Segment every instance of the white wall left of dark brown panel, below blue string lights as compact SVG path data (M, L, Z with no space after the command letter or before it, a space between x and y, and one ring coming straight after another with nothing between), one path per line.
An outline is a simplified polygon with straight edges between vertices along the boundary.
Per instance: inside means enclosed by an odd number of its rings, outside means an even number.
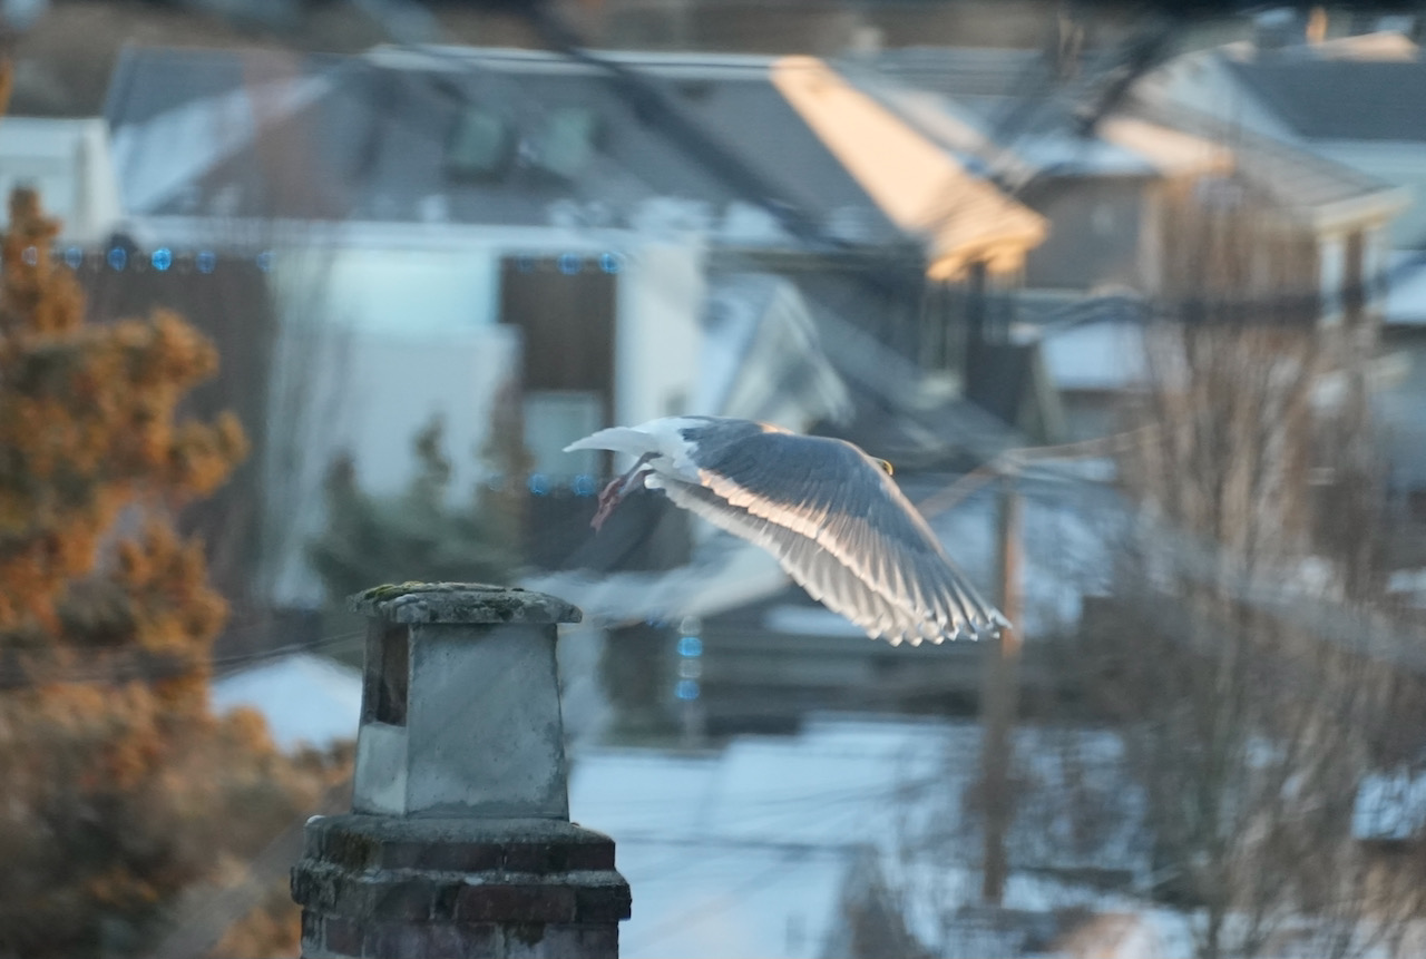
M493 322L495 261L482 248L278 251L274 262L265 571L274 600L312 606L322 593L304 553L325 523L334 457L351 455L368 493L399 493L416 467L412 439L441 416L451 496L469 497L519 335Z

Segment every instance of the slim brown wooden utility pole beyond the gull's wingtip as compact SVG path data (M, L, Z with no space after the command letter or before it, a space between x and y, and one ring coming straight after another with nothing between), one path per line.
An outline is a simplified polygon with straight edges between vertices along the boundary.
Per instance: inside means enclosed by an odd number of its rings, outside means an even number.
M981 874L981 902L1000 906L1005 893L1010 862L1005 854L1005 834L1010 831L1012 797L1010 771L1012 764L1012 734L1020 700L1020 493L1015 477L1004 476L1000 484L1000 610L1015 628L1002 628L985 650L981 684L981 805L985 818L984 871Z

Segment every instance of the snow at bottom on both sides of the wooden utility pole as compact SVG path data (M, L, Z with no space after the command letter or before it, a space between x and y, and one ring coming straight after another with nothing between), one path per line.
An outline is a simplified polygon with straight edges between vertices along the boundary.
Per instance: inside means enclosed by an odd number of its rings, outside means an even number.
M970 722L819 717L796 737L740 737L717 751L579 752L573 815L616 839L635 891L623 955L823 955L868 849L911 932L955 955L968 933L954 913L980 892L981 839L974 814L963 814L980 737ZM1085 802L1104 814L1078 846L1065 819L1070 757L1099 784ZM1027 794L1011 836L1018 868L1007 908L1142 908L1052 872L1092 864L1144 874L1142 808L1117 775L1118 760L1108 734L1018 734ZM1162 936L1152 943L1152 955L1182 955L1164 952Z

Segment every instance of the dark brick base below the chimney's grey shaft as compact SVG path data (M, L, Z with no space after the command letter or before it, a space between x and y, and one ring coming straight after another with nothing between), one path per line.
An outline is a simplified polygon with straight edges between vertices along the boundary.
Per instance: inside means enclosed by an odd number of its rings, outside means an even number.
M562 819L341 815L292 869L304 959L616 959L615 844Z

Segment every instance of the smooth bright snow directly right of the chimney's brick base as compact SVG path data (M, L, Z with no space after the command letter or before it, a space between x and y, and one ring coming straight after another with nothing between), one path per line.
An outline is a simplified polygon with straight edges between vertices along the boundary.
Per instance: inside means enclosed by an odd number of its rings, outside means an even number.
M639 901L620 953L820 953L857 851L894 829L890 798L907 774L934 772L935 728L814 721L720 752L580 754L570 811L615 838Z

